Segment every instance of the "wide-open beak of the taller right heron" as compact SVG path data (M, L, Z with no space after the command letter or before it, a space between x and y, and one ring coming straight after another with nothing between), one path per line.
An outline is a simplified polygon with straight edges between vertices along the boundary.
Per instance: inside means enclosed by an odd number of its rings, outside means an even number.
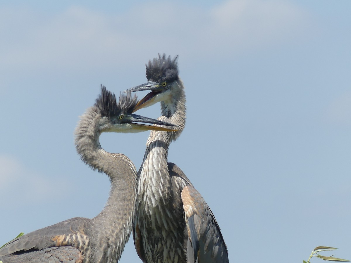
M155 96L163 91L163 88L160 88L159 83L149 81L147 83L141 84L139 86L136 86L134 88L130 88L125 90L125 92L137 92L137 91L142 91L142 90L151 90L150 93L148 93L143 99L141 99L137 106L135 106L133 112L136 112L137 110L141 108L145 108L150 106L151 104L154 104L154 99Z

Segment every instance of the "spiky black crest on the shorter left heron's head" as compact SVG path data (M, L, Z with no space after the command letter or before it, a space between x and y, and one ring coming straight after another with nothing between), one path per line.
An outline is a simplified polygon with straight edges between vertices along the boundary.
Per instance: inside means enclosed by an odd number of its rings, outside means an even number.
M120 93L117 103L116 95L101 85L101 94L96 100L95 106L100 109L101 115L111 117L120 115L122 112L131 114L137 103L137 96L135 94L132 96L131 93Z

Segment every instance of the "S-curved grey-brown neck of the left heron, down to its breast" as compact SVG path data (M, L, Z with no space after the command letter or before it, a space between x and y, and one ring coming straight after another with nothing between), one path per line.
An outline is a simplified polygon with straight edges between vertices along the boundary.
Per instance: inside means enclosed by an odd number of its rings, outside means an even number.
M111 191L105 208L91 221L98 258L120 257L127 242L135 216L137 171L123 154L111 154L99 143L101 115L93 108L81 117L76 129L76 149L82 161L94 170L104 172L111 181ZM94 245L94 244L93 244ZM100 261L99 261L100 262Z

